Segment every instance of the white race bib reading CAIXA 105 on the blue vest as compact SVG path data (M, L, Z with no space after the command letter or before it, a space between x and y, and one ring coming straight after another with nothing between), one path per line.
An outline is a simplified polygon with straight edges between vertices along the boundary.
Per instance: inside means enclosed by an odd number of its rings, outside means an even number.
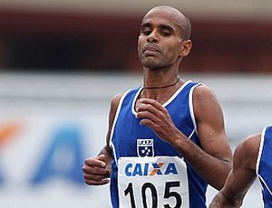
M187 166L178 156L120 157L120 208L189 208Z

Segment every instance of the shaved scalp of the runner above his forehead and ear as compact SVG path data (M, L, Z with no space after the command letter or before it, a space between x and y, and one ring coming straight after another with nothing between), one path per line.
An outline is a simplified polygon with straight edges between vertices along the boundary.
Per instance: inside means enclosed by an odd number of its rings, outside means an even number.
M191 25L189 22L189 18L180 12L180 10L170 6L170 5L158 5L155 6L153 8L151 8L151 10L144 15L142 22L149 17L149 15L151 14L168 14L170 15L170 17L173 19L173 21L175 22L175 24L180 25L180 27L182 28L182 35L181 38L183 40L188 40L190 37L190 33L191 33Z

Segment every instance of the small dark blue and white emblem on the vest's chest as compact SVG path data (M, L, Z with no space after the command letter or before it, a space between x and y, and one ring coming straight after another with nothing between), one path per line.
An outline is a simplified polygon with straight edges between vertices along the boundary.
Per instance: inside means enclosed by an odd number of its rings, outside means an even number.
M154 140L152 138L137 139L138 156L154 156Z

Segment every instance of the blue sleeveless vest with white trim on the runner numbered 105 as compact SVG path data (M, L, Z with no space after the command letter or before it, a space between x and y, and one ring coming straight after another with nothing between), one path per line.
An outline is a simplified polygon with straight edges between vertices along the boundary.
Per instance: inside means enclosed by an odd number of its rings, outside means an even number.
M163 106L168 109L175 126L201 147L192 105L192 91L198 85L199 83L187 81ZM135 103L141 90L142 88L128 90L122 96L112 125L112 207L181 207L181 203L185 208L206 207L206 182L179 151L157 137L151 128L140 125L141 118L135 118ZM178 160L184 163L184 166L180 166L186 170L186 173L181 174L186 177L186 181L182 183L177 177L177 180L170 180L182 172L182 168L177 167L180 163ZM122 174L120 169L123 170ZM152 181L151 175L156 176L156 179ZM121 180L125 183L121 184ZM138 185L138 180L145 181ZM180 188L182 185L187 187L184 188L185 191ZM188 192L188 197L183 197L183 191L180 190ZM127 202L122 203L121 198ZM140 203L141 206L137 206Z

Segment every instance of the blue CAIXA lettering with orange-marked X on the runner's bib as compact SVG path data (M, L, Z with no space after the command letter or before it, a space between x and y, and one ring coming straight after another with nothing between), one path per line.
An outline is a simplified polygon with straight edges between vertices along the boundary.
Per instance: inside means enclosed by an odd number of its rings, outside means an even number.
M177 175L178 171L174 163L129 163L125 166L126 176L147 176L147 175Z

